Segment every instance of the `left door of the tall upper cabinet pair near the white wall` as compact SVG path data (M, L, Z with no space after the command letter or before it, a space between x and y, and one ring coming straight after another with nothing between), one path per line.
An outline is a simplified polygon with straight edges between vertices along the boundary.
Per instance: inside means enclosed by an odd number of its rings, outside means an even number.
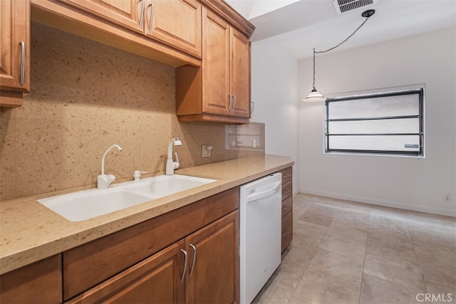
M203 19L202 111L229 115L229 24L211 11Z

